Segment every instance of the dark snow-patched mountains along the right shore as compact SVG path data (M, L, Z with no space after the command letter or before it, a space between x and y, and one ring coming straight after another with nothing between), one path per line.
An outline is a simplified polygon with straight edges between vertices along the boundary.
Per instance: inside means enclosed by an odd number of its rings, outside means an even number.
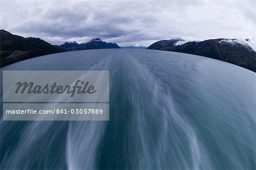
M202 42L179 43L177 39L162 40L147 49L183 52L226 61L256 72L255 45L249 39L210 39Z

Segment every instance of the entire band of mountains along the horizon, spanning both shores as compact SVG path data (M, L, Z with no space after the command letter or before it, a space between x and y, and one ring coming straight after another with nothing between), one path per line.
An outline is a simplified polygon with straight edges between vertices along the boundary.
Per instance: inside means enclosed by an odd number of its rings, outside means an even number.
M0 30L0 67L37 56L49 55L51 53L100 48L121 47L116 43L106 43L99 38L81 44L65 42L61 45L52 45L40 38L23 38L22 36L13 35L8 31ZM129 46L122 48L143 49L146 47ZM210 39L201 42L187 42L184 39L176 38L161 40L151 44L147 49L182 52L210 57L212 59L236 64L256 72L256 45L250 42L249 39Z

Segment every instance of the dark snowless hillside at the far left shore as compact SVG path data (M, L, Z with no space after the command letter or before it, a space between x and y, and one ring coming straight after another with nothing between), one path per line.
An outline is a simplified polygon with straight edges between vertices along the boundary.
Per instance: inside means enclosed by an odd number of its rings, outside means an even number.
M23 38L0 30L0 67L57 52L64 52L64 50L40 38Z

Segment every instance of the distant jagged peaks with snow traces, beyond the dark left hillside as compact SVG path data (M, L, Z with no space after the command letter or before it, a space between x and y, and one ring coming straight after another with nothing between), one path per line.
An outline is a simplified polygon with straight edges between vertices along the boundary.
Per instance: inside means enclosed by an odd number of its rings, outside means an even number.
M66 51L75 51L82 49L102 49L102 48L120 48L116 43L106 43L99 38L90 40L89 42L78 44L76 42L65 42L60 45Z

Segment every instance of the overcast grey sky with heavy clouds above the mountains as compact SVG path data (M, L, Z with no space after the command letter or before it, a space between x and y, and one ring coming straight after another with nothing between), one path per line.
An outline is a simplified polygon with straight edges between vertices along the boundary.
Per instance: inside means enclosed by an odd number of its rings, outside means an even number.
M51 44L101 38L121 46L157 40L249 38L255 1L0 1L0 28Z

